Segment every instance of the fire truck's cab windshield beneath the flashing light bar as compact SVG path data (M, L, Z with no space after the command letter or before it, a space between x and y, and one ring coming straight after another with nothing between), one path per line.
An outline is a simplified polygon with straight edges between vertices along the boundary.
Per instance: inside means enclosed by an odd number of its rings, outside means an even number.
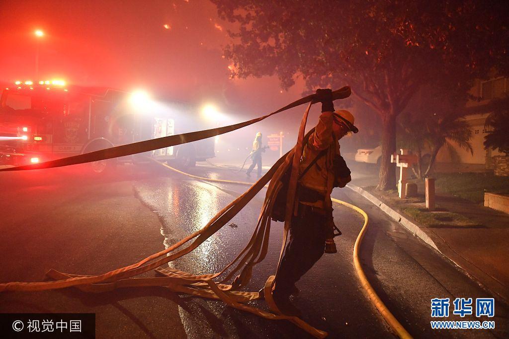
M2 99L4 114L41 115L65 109L64 101L51 95L4 93Z

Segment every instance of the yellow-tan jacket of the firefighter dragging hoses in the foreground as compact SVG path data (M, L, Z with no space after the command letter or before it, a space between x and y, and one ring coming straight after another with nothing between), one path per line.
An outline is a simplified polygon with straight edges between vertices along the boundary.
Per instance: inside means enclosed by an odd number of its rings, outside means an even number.
M316 202L302 202L305 205L312 205L323 209L331 208L330 194L334 188L334 156L340 155L340 144L332 132L332 112L323 112L320 114L315 132L309 136L309 140L304 146L302 160L299 165L299 173L302 173L307 166L327 149L325 155L320 157L307 172L300 178L299 183L307 189L318 192L323 199Z

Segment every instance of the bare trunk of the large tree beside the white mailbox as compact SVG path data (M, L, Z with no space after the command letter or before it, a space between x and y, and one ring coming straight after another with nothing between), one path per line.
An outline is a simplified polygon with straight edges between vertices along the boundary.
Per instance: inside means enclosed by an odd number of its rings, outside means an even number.
M395 164L390 163L390 155L396 151L396 116L384 114L382 124L382 158L377 189L386 191L396 188Z

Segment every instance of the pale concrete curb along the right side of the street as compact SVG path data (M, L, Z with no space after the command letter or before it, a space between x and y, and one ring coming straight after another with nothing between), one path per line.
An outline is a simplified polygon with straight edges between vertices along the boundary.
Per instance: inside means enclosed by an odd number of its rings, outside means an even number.
M437 236L435 240L433 240L432 237L430 237L425 231L421 229L421 227L417 226L416 224L411 222L408 218L406 218L404 215L402 215L400 212L389 207L387 204L382 202L373 194L363 190L362 188L350 183L347 184L346 187L348 187L354 192L357 192L358 194L372 202L374 205L378 206L395 222L405 227L413 235L419 237L419 239L426 242L433 249L435 249L440 255L442 255L442 257L453 263L455 266L459 267L460 270L462 270L463 273L468 276L468 278L470 278L472 281L474 281L476 284L478 284L486 291L490 292L493 295L496 295L506 304L509 305L509 294L506 291L506 287L502 285L498 280L493 278L491 275L488 275L487 273L476 267L474 264L467 261L461 255L457 254L453 249L449 247L449 245L443 239ZM439 245L437 245L435 241L438 241Z

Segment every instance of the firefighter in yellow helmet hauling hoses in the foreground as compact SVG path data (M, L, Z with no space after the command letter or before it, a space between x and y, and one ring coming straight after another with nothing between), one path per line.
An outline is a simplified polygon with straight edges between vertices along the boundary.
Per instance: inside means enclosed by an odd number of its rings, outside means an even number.
M330 239L332 189L344 187L351 180L350 171L340 157L338 140L358 132L352 113L347 110L334 112L330 89L318 89L316 97L322 103L322 113L315 132L304 146L299 173L307 170L299 179L298 207L292 218L288 245L273 290L279 310L295 316L300 316L300 310L289 299L290 295L298 293L295 283L322 257L326 239ZM338 165L337 159L341 159L342 164ZM338 166L340 173L346 168L348 177L338 177Z

